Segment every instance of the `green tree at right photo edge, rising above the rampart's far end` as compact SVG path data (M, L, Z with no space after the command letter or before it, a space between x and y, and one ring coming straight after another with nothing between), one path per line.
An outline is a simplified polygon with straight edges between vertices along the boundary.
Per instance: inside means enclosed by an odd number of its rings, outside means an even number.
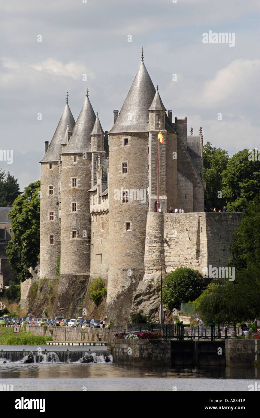
M222 173L222 194L228 212L243 212L260 193L260 161L251 161L248 150L233 155Z

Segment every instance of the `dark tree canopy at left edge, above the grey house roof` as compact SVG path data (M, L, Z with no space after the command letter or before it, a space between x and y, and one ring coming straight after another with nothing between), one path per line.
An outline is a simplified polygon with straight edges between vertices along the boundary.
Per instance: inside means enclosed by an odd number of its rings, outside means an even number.
M12 206L15 199L21 194L19 191L20 186L17 183L18 179L6 174L5 171L0 168L0 206Z

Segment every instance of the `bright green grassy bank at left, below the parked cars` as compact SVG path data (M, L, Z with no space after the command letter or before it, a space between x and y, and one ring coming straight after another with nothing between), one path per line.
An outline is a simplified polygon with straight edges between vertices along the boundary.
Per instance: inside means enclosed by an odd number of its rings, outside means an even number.
M14 334L13 327L0 327L0 345L45 345L46 341L52 341L52 337L36 336L26 332L20 327L20 332Z

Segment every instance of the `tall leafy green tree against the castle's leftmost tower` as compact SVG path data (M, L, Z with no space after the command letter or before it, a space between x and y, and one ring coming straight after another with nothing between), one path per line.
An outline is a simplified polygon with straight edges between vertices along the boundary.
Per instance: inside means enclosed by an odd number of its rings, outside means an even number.
M12 219L12 241L8 242L6 253L17 279L31 278L31 267L35 270L40 251L40 181L25 187L24 193L15 199L8 216Z

